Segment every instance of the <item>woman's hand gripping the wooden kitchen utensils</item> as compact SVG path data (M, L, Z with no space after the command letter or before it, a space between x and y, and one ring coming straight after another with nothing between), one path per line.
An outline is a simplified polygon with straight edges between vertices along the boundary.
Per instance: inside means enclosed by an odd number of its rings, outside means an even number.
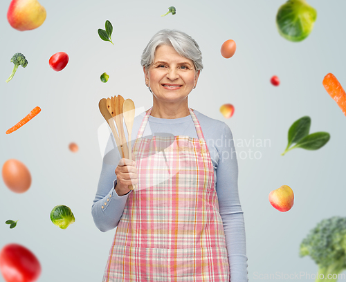
M131 191L129 185L138 183L136 163L126 158L120 159L116 167L116 193L124 196Z

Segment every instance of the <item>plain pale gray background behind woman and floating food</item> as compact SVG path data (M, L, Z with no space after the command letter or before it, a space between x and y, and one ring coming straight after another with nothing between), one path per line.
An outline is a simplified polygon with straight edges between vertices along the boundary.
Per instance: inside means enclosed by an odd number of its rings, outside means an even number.
M345 215L346 117L322 86L331 72L346 87L345 1L309 1L318 11L317 21L311 35L298 43L277 32L275 15L284 1L40 3L46 21L19 32L6 19L10 1L0 2L0 163L21 160L33 177L25 194L0 182L0 247L19 243L32 250L42 263L38 281L101 281L114 230L100 232L91 217L102 164L98 128L104 120L98 101L120 94L149 109L152 97L140 55L154 33L176 28L196 39L203 53L204 69L189 105L226 122L238 153L260 151L258 160L245 153L238 159L249 280L255 280L255 272L316 273L311 259L298 257L300 242L322 218ZM176 15L160 17L169 6L176 7ZM106 19L113 24L114 46L98 37ZM231 59L219 52L227 39L237 43ZM48 59L60 51L70 61L55 72ZM10 58L17 52L29 64L6 84ZM110 75L107 84L100 82L104 71ZM279 87L269 82L273 75L280 77ZM228 120L219 112L224 103L235 106ZM42 112L6 135L35 106ZM294 149L280 156L289 126L303 115L311 117L311 133L327 131L331 139L318 151ZM256 147L257 139L271 140L270 146ZM251 145L242 147L239 140L251 140ZM69 151L70 142L78 144L78 153ZM269 192L281 185L295 194L286 213L268 202ZM75 214L66 230L51 223L55 205L67 205ZM15 229L4 223L8 219L19 219Z

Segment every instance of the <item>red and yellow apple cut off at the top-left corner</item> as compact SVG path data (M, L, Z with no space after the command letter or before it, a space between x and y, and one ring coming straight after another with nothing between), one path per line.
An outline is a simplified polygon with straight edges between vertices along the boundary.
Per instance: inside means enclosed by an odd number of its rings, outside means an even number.
M7 19L16 30L33 30L44 23L46 9L37 0L12 0Z

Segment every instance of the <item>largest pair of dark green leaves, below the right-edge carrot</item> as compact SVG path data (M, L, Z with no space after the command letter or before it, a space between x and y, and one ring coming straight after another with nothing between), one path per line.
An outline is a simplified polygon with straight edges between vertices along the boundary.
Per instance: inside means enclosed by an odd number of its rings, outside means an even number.
M286 150L281 156L284 156L285 153L291 151L291 149L302 148L307 150L317 150L320 147L325 146L329 141L330 135L327 132L315 132L309 134L311 119L308 116L304 116L299 120L296 120L291 127L289 128L289 144L287 144ZM289 149L291 144L295 144Z

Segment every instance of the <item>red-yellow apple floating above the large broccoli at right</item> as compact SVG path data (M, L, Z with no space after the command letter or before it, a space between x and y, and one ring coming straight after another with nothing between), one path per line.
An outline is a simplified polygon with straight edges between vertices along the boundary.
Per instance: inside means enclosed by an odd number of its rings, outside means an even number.
M293 207L294 194L291 187L282 185L269 193L269 202L280 212L287 212Z

